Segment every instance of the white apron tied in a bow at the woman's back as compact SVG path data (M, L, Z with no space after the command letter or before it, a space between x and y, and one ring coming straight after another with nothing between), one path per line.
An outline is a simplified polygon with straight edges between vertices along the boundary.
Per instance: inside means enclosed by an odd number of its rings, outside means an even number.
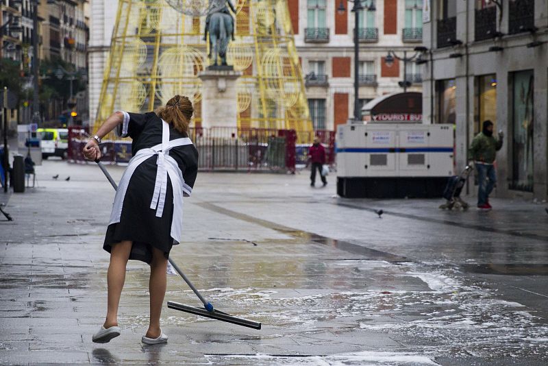
M116 196L114 196L114 206L112 207L112 212L110 214L109 225L120 222L125 193L135 169L151 156L157 155L158 160L156 160L156 164L158 165L158 173L156 173L154 193L150 208L156 210L156 217L162 217L164 204L166 202L167 180L169 175L173 188L173 221L171 221L171 237L173 238L173 244L179 244L183 226L183 196L190 196L192 188L185 184L181 169L179 169L179 165L175 159L169 156L169 150L173 149L173 147L184 145L192 145L190 138L177 138L176 140L169 141L169 125L162 119L162 143L149 149L140 149L132 160L129 160L129 164L122 175L118 190L116 191Z

